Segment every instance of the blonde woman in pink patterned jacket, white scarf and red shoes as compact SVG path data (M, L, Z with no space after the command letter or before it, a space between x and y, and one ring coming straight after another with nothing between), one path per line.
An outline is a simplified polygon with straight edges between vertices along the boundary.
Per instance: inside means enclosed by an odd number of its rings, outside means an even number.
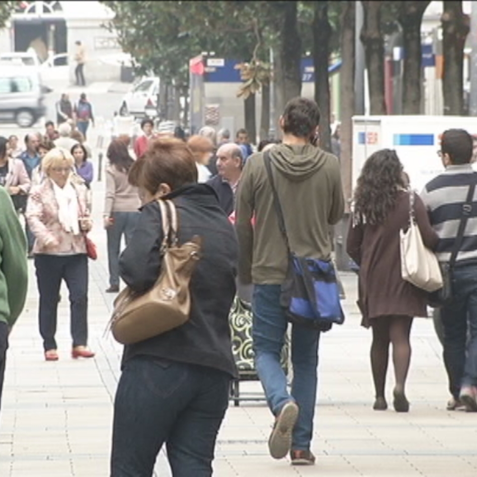
M47 361L58 360L55 340L61 281L70 291L72 357L91 358L87 348L88 258L84 234L92 226L87 189L73 179L70 152L52 149L42 159L43 181L32 188L26 219L35 244L40 294L39 325Z

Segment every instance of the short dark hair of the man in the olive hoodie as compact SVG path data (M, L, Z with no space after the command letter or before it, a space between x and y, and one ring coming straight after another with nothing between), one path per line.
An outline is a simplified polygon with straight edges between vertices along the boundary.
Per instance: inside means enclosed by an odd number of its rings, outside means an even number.
M318 104L302 97L288 101L283 112L283 132L297 138L311 139L319 124Z

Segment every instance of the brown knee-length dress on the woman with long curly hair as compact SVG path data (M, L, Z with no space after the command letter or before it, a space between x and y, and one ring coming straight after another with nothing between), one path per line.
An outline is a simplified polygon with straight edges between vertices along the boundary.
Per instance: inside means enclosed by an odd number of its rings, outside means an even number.
M415 195L414 213L424 245L435 250L438 236L422 200ZM359 265L358 307L361 324L383 316L427 317L427 293L401 278L399 231L409 224L409 193L400 191L396 207L381 225L350 220L347 251Z

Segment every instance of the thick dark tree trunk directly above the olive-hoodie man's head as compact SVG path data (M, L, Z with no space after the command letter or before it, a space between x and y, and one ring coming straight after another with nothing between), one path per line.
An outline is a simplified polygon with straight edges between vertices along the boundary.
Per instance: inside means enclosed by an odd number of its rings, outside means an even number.
M281 3L283 15L279 31L281 40L274 60L278 115L283 113L283 108L290 99L300 96L302 92L302 39L298 30L298 2L283 1ZM279 105L280 108L278 108Z

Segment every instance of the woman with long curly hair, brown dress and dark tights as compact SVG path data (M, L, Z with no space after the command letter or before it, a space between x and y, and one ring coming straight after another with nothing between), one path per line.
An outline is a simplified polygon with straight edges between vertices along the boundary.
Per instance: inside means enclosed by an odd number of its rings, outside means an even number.
M414 216L424 245L434 250L438 242L424 204L407 189L404 177L395 151L383 149L367 159L354 192L347 241L348 254L360 267L361 324L373 330L371 369L376 390L373 408L388 407L385 383L392 344L396 379L393 404L397 412L409 410L405 381L411 356L412 319L427 316L426 292L401 277L399 232L409 225L410 194L414 196Z

